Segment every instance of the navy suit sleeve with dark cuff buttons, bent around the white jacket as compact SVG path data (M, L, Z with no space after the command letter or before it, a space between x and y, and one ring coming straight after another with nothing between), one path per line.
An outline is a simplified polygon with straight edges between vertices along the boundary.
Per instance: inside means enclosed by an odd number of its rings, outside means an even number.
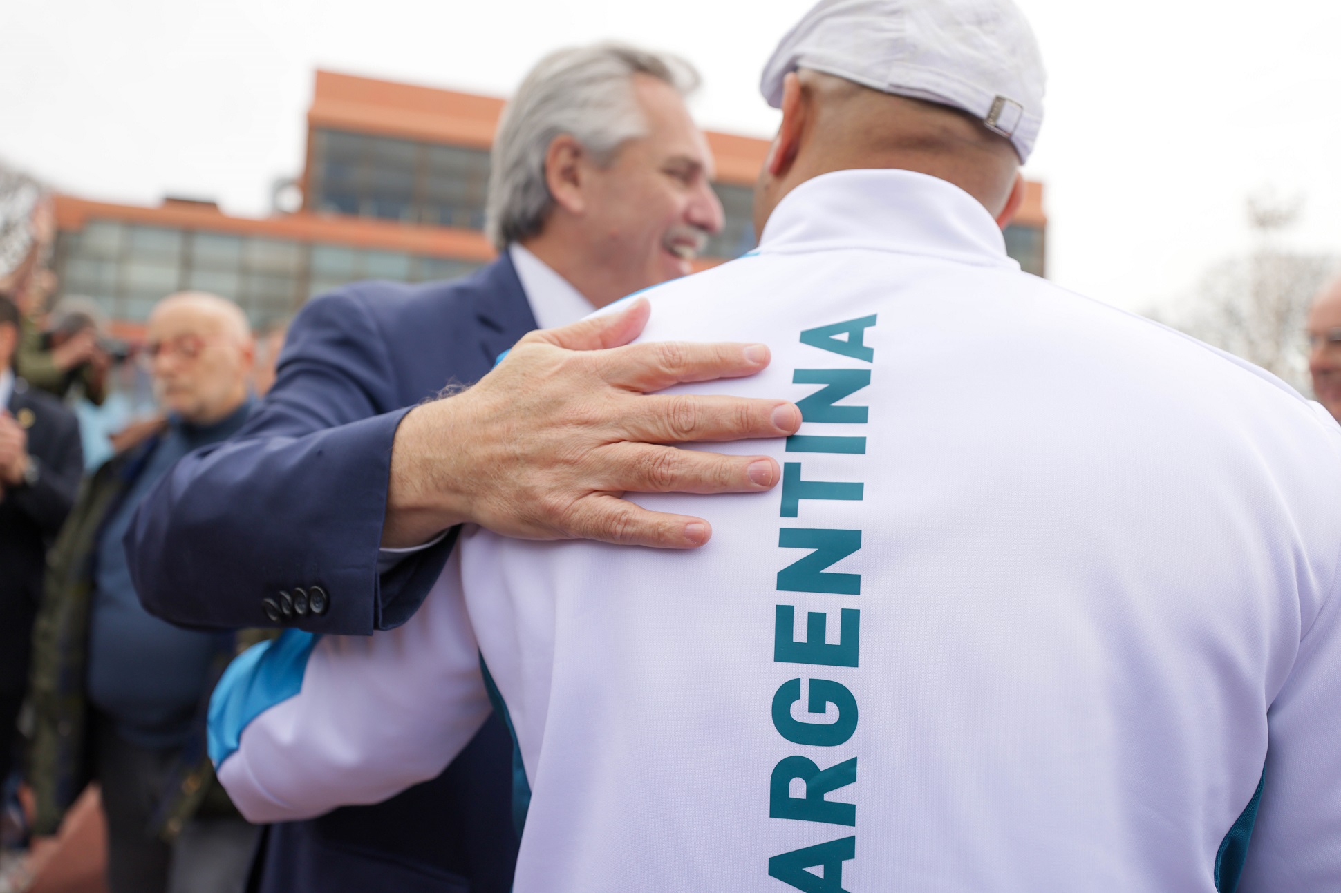
M145 607L205 629L366 636L405 622L453 542L378 573L392 441L406 412L359 292L308 303L257 413L177 463L141 503L126 551ZM326 594L320 613L312 602L272 617L314 587Z

